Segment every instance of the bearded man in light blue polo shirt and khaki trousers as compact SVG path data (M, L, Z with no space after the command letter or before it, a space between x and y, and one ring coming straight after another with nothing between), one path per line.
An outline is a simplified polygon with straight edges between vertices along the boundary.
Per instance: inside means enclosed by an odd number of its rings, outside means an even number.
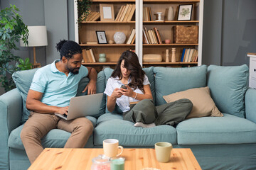
M43 151L41 138L50 130L58 128L71 132L65 147L85 147L92 134L93 126L87 118L64 120L54 113L68 115L70 98L78 90L82 77L89 77L85 87L87 94L96 93L97 72L90 67L82 66L82 50L78 43L61 40L56 45L60 60L38 69L28 91L26 107L31 115L21 130L21 140L31 164Z

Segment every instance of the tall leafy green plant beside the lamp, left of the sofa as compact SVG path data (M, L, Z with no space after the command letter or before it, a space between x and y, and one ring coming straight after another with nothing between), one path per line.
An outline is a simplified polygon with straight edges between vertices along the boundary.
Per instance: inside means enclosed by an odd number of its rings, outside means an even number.
M18 67L20 57L13 54L14 50L18 50L16 42L20 39L28 45L28 28L17 13L19 9L15 5L10 6L0 12L0 83L5 91L15 88L11 74L20 70L22 65L29 65L28 61ZM26 67L28 68L32 67Z

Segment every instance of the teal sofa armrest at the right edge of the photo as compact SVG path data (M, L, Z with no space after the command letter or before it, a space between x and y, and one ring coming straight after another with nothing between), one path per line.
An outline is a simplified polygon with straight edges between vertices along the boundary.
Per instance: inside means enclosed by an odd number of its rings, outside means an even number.
M256 123L256 89L247 89L245 94L245 118Z

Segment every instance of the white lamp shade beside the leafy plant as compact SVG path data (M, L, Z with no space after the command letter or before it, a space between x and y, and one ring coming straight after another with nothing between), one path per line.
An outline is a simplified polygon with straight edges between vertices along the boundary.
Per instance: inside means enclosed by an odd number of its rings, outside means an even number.
M28 26L28 34L28 47L48 45L46 26ZM20 40L20 45L25 47L22 40Z

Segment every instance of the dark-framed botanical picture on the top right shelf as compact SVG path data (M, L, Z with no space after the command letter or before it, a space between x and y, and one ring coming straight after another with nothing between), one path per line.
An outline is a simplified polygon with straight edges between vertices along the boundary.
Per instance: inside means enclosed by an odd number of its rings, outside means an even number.
M178 21L191 21L193 4L178 6Z

